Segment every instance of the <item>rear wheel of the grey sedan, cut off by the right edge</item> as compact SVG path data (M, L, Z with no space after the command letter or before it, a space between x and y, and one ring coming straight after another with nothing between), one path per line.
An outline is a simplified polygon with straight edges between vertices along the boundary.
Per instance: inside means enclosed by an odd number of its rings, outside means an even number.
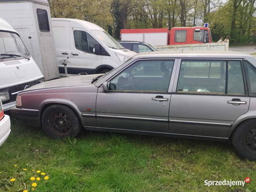
M237 126L232 134L232 144L241 157L256 161L256 119Z

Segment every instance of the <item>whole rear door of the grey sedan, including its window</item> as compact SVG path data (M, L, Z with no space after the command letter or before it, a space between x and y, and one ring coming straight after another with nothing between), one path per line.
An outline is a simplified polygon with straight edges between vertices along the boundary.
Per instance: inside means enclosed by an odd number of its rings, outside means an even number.
M170 132L225 138L248 111L242 60L180 60L170 104Z

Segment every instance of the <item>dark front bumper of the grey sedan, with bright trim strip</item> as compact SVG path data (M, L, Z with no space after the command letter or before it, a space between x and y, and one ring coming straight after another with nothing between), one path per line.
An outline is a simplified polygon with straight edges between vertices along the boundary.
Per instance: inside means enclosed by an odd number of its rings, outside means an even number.
M36 127L41 125L39 111L36 109L12 108L10 111L13 116L25 119L29 125Z

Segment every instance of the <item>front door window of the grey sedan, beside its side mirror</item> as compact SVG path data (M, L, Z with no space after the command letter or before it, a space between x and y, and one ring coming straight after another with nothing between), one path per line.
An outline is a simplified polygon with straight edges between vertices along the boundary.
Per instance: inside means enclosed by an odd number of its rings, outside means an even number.
M109 83L111 92L167 92L174 60L137 61Z

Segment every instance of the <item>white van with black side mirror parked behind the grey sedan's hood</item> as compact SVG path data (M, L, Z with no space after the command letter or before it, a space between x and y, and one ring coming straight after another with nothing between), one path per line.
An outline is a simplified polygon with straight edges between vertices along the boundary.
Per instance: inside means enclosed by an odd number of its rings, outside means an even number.
M68 74L108 72L136 52L125 49L104 29L79 19L52 18L57 62L64 74L63 60L67 60Z

